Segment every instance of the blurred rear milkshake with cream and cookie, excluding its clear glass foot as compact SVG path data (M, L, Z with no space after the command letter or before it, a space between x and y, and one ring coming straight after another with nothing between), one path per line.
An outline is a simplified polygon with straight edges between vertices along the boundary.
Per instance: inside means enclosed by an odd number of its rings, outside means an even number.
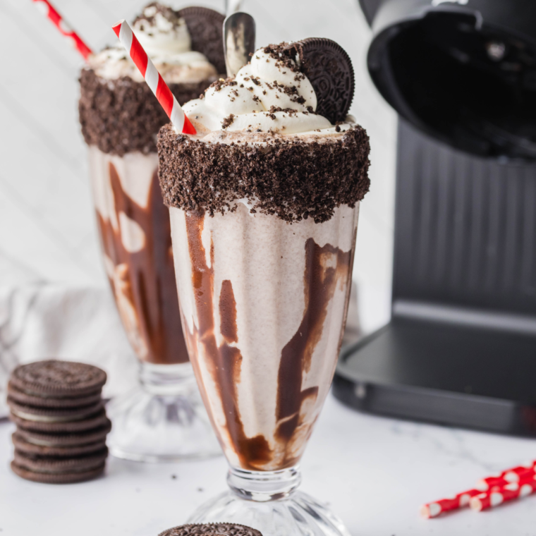
M192 35L189 28L207 16L212 25ZM222 21L212 10L153 3L133 23L181 104L205 90L224 64ZM177 326L169 216L157 177L156 137L166 115L119 43L90 58L80 85L104 264L128 339L144 361L183 363L188 353Z

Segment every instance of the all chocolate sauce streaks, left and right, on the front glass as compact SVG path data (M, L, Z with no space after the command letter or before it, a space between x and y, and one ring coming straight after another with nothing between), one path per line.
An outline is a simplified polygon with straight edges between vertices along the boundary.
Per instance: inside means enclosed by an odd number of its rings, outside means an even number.
M226 418L226 429L236 452L240 467L249 470L262 470L263 466L273 460L274 452L269 441L262 435L246 437L243 422L238 409L238 392L240 382L242 355L237 346L238 331L236 326L236 301L231 281L224 280L219 295L220 333L225 342L217 345L214 335L214 245L211 240L210 267L207 265L205 247L202 244L204 213L187 212L185 214L188 248L192 263L192 282L195 293L195 305L199 326L194 324L193 334L187 333L188 346L193 353L193 365L200 383L205 406L210 412L207 398L202 386L202 378L197 366L197 345L204 346L206 366L214 384L219 390L221 404ZM335 262L333 262L335 260ZM304 292L305 311L296 334L284 346L279 365L276 419L279 425L275 440L282 447L284 456L278 469L296 465L301 456L301 446L310 433L311 426L305 430L300 444L294 444L299 432L303 432L303 415L300 415L307 398L316 400L318 386L302 391L303 375L310 369L312 353L322 337L328 305L334 296L337 284L349 292L351 284L351 251L343 252L330 244L320 247L309 238L305 243ZM186 325L186 324L185 324ZM341 327L341 331L343 327ZM187 330L188 331L188 330ZM270 394L267 394L270 396ZM211 415L211 418L212 415ZM217 427L214 427L218 430ZM298 449L296 449L296 446ZM278 449L279 451L279 449Z

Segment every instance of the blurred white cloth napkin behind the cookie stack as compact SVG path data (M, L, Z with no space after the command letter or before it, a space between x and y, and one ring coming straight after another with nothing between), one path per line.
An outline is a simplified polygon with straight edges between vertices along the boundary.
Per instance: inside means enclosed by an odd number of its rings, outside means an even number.
M138 360L108 288L0 286L0 417L8 413L6 384L13 367L49 358L101 367L108 374L106 397L135 385Z

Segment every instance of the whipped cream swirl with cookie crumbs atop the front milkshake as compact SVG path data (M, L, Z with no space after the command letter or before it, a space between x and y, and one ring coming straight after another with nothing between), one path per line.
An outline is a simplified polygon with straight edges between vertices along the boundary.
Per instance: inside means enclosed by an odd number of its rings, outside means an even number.
M221 130L281 135L346 131L351 116L348 123L334 126L315 114L317 95L299 72L298 61L279 61L269 50L258 49L233 80L219 80L204 97L185 104L185 114L200 135Z

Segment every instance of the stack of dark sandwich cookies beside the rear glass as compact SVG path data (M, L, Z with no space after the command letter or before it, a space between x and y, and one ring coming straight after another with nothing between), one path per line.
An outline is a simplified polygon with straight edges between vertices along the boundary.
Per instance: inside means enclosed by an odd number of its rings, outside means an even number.
M97 477L108 449L102 386L106 372L92 365L46 360L20 365L8 383L15 459L27 480L66 484Z

